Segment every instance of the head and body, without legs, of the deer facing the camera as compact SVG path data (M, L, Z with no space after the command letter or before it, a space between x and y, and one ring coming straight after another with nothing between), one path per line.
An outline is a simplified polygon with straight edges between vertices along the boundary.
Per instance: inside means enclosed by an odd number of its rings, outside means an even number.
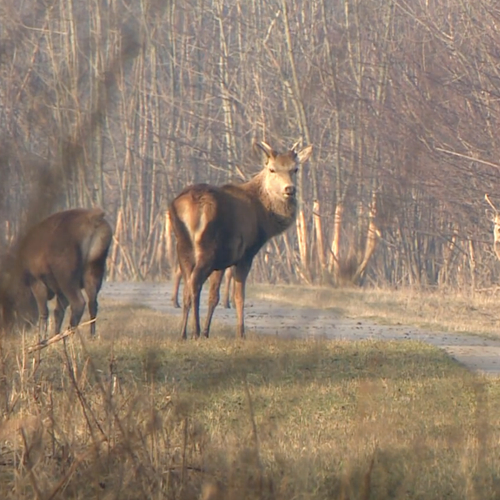
M197 184L182 191L170 212L181 252L210 254L217 269L253 257L262 245L294 221L295 177L312 147L279 154L258 144L266 154L263 169L242 184L221 187Z

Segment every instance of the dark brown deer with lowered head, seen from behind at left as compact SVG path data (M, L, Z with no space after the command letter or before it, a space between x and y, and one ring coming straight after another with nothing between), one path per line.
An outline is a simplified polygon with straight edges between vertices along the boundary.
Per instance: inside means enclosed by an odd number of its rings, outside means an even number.
M38 307L40 337L47 335L47 301L54 296L54 334L60 333L64 313L71 307L70 327L83 315L85 289L90 313L90 333L95 335L97 294L106 270L112 229L100 208L57 212L33 226L21 239L18 272L31 288Z

